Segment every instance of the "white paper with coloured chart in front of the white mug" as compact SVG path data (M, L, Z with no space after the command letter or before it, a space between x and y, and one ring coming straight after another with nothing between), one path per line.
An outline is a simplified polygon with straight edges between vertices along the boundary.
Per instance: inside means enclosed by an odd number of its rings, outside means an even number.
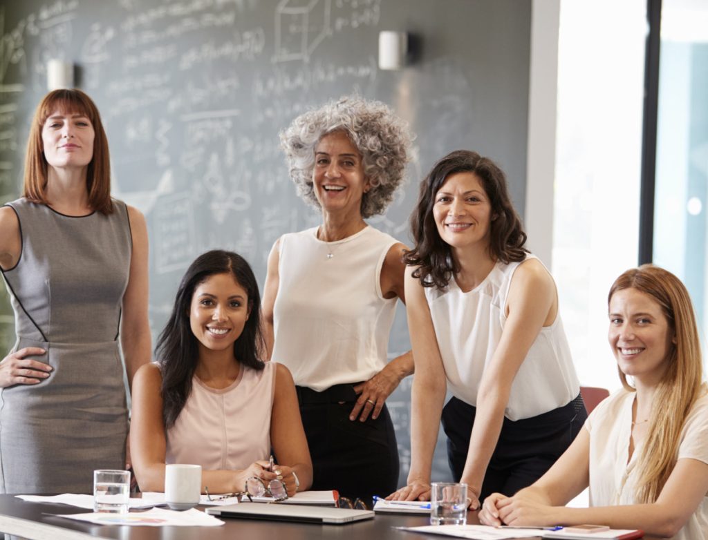
M217 527L223 525L222 520L191 508L184 512L152 508L145 512L129 512L127 514L109 514L106 512L91 512L90 514L57 514L69 520L86 521L99 525L142 525L145 527Z

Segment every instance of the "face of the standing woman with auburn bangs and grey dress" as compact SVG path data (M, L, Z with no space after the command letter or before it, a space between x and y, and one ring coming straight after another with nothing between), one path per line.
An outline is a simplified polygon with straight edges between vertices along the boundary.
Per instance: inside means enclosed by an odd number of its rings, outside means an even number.
M95 131L88 117L79 112L56 110L42 127L42 150L55 168L83 168L93 158Z

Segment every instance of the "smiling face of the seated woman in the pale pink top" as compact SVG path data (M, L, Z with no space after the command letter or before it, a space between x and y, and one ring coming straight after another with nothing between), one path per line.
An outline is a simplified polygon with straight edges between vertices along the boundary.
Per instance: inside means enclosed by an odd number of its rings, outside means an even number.
M189 322L200 351L233 351L249 313L249 295L232 274L214 274L199 283L192 295Z

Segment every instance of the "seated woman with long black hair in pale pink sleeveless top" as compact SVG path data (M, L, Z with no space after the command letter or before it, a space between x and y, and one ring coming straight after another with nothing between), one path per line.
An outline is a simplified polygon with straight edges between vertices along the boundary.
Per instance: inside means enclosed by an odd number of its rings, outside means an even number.
M221 250L191 264L156 346L135 375L130 441L143 491L163 491L165 465L202 466L202 491L239 493L256 477L288 495L312 483L290 371L258 357L261 295L251 266ZM270 470L268 455L278 465Z

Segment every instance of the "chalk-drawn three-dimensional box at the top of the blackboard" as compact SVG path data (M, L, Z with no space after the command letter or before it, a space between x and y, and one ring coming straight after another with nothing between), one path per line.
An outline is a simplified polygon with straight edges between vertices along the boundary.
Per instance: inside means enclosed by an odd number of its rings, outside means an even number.
M275 8L274 62L308 62L314 49L332 35L331 0L281 0Z

